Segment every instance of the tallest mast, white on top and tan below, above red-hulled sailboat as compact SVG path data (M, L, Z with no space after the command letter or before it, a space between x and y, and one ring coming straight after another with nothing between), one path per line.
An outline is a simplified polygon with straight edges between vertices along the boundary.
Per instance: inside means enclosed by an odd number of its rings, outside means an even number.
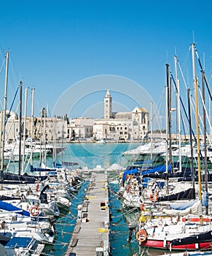
M193 81L195 87L195 118L197 129L197 167L198 167L198 184L199 184L199 198L202 200L201 193L201 170L200 170L200 132L199 132L199 109L198 109L198 89L197 89L197 77L195 72L195 44L192 43L192 69L193 69ZM200 222L203 223L203 216L200 217Z

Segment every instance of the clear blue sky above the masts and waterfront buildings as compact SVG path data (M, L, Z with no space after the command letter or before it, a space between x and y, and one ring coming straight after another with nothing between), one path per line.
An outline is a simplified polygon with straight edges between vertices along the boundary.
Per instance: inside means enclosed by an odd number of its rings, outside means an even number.
M51 112L80 80L115 75L141 85L158 105L166 83L165 63L173 69L176 54L187 73L193 35L211 84L211 13L210 0L1 1L1 63L9 50L9 97L23 80L23 86L35 88L36 113L47 105ZM0 81L3 96L3 70ZM103 100L106 89L113 90L112 84L105 87L98 97L87 99L90 106ZM122 94L113 95L119 107L135 107ZM142 102L141 96L141 107ZM66 104L63 111L83 116L90 106L86 100L79 105L75 113L66 110ZM98 115L93 112L93 117Z

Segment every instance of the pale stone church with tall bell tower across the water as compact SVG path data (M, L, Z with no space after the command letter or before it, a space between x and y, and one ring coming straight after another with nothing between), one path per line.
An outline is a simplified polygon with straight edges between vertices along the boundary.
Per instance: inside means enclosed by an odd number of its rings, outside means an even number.
M131 112L112 112L112 97L109 90L104 98L104 118L93 123L93 138L100 140L144 140L149 130L149 113L145 108Z

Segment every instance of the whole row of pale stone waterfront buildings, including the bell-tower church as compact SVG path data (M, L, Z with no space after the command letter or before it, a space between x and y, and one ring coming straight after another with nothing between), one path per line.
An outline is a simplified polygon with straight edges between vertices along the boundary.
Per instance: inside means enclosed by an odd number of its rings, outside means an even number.
M7 111L8 113L9 111ZM101 138L107 140L144 140L148 135L149 127L149 113L145 108L136 107L131 112L113 112L112 97L109 90L106 91L104 98L103 118L80 117L68 121L67 116L48 117L45 108L42 109L41 116L34 117L33 121L31 118L31 116L22 118L21 136L23 138L25 120L25 138L33 138L42 142L85 138L92 138L93 140ZM7 142L20 136L20 118L17 113L9 113L5 135Z

